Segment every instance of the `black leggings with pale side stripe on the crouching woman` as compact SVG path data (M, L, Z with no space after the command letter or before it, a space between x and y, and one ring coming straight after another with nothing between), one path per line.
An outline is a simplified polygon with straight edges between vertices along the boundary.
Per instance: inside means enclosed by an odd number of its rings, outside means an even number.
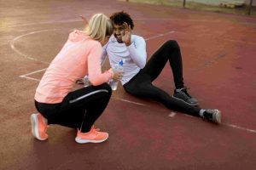
M37 110L48 120L48 124L79 128L82 133L90 131L96 119L108 105L112 89L108 83L90 86L70 92L58 104L35 101Z

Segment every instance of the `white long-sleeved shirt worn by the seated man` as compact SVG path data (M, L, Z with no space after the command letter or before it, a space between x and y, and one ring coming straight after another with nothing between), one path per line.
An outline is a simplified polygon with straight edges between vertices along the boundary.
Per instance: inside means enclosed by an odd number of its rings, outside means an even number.
M120 81L124 85L146 65L146 42L143 37L131 35L131 45L126 47L124 42L117 42L116 38L112 35L108 43L103 47L102 63L106 59L107 54L111 67L119 64L119 61L123 59L124 76Z

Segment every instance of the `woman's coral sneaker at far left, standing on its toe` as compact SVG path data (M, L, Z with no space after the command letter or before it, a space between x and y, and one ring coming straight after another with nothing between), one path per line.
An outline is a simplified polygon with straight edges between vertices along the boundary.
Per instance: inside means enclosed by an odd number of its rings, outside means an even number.
M38 140L48 139L48 134L46 133L47 121L44 119L40 113L33 113L31 115L31 124L32 124L32 135Z

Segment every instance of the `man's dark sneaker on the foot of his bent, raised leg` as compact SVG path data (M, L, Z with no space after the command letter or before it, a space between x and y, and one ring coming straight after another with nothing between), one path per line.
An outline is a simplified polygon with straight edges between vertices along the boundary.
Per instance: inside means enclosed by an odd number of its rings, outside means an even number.
M172 97L175 99L179 99L189 105L198 105L198 100L192 98L187 92L187 89L188 88L175 89Z

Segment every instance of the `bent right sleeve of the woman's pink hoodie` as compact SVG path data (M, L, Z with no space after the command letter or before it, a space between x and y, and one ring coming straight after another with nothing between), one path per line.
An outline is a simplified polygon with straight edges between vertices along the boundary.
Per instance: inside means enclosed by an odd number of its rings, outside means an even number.
M90 48L88 55L88 75L90 83L94 86L108 82L109 79L113 78L113 71L111 69L102 73L101 56L102 46L100 43L95 43Z

